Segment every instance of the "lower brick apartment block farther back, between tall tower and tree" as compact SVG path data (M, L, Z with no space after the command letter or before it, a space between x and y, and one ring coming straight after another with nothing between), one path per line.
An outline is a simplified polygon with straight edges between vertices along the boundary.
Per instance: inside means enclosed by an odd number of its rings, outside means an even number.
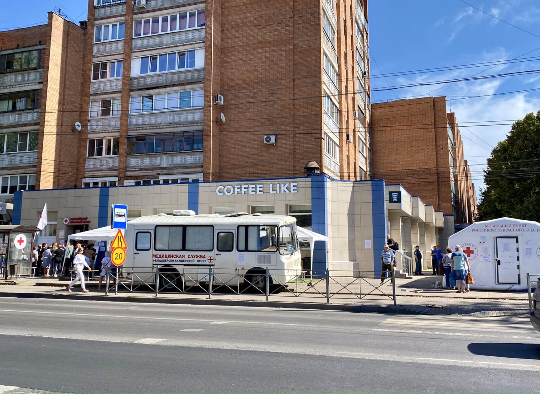
M456 225L474 222L476 191L446 97L373 103L374 177L401 183Z

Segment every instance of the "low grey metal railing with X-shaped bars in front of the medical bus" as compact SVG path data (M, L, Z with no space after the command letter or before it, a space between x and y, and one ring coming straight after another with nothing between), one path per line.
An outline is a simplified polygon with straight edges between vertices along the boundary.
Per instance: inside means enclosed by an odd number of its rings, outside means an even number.
M111 289L111 279L115 285ZM273 268L215 268L214 265L170 264L120 271L107 268L105 294L152 292L167 294L258 295L268 301L273 296L330 299L388 299L396 305L394 271L312 271Z

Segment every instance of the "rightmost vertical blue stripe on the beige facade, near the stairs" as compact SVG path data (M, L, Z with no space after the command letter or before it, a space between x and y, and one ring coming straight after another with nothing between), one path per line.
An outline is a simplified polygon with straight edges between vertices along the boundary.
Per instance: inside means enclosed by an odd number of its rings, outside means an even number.
M372 181L372 222L373 222L373 268L381 269L381 251L386 244L386 209L384 208L384 181Z

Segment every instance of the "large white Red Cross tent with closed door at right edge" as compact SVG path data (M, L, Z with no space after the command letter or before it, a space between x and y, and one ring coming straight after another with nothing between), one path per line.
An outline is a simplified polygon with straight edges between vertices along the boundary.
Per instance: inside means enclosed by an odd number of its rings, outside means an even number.
M500 218L476 222L448 238L468 255L471 289L527 289L527 273L540 274L540 223ZM536 278L536 277L535 277Z

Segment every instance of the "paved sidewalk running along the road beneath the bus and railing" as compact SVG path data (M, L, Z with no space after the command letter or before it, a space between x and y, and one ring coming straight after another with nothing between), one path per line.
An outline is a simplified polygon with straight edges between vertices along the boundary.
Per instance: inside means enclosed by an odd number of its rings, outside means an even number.
M436 277L434 277L435 279ZM257 294L171 294L160 292L156 298L154 293L130 293L122 285L118 295L104 290L97 291L97 282L87 282L91 293L80 293L80 287L73 288L72 293L65 290L69 283L67 280L48 278L24 278L17 281L16 286L0 285L0 296L16 298L50 298L50 299L78 299L95 301L125 301L125 302L159 302L184 303L200 305L233 305L257 306L275 308L308 308L349 310L350 312L376 312L376 313L404 313L404 314L431 314L431 315L463 315L484 317L528 317L529 302L527 293L509 292L475 292L458 294L449 290L432 289L431 278L416 280L396 279L396 303L391 299L392 285L383 285L380 290L366 295L374 287L362 284L362 299L358 294L349 293L347 289L340 289L342 285L335 282L330 284L330 302L326 299L326 283L319 282L313 287L304 286L290 289L294 294L285 291L269 295L268 301L264 295ZM376 285L376 282L374 284ZM414 283L416 282L416 284ZM343 283L346 285L347 283ZM359 289L356 282L356 288ZM414 285L415 287L410 287ZM426 288L426 286L429 286ZM316 292L319 290L322 294ZM353 290L352 285L348 287ZM376 295L376 293L378 293Z

